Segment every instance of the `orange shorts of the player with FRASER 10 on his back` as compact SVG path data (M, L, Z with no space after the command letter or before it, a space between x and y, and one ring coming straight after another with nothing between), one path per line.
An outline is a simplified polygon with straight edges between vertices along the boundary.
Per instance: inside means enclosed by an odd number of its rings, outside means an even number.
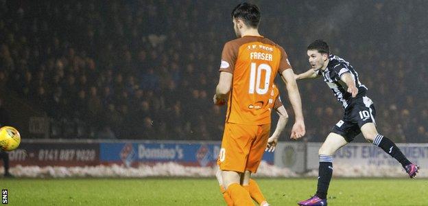
M255 173L270 134L270 124L226 123L217 164L220 170Z

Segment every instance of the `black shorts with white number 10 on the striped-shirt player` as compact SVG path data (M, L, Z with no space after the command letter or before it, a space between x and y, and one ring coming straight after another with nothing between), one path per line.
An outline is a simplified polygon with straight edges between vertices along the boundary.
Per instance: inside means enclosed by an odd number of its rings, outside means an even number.
M375 122L375 105L370 98L355 98L345 110L344 117L331 129L332 133L342 135L346 141L353 141L361 133L361 126Z

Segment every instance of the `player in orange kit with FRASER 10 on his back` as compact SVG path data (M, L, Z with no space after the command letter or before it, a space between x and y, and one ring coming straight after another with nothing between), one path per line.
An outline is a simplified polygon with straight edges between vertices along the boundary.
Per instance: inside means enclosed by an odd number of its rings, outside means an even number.
M217 164L223 185L235 205L254 205L243 187L257 172L270 134L268 101L276 73L285 82L295 123L292 139L305 135L302 102L294 71L283 47L259 34L257 5L240 3L232 12L237 39L224 45L215 104L228 102L226 124Z

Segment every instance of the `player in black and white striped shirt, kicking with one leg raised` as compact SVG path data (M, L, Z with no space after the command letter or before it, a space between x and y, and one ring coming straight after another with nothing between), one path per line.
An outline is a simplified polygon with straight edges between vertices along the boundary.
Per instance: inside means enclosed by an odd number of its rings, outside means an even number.
M399 161L410 178L414 178L419 166L411 163L390 139L378 133L375 106L367 97L368 89L360 82L357 71L343 58L330 54L329 45L322 40L311 43L307 47L307 55L312 68L295 75L296 80L322 76L342 104L344 117L332 128L318 152L320 166L316 194L306 201L300 201L298 205L327 204L327 190L333 173L333 154L353 141L359 133L363 133L366 140Z

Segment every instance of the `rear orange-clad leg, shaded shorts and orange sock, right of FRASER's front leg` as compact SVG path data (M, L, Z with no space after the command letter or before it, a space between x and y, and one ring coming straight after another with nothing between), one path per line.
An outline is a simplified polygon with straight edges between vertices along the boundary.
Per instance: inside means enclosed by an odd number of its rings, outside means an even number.
M266 144L268 144L270 135L270 124L265 124L258 127L259 129L257 137L252 142L252 147L250 153L248 154L248 162L242 185L248 188L248 192L250 192L250 196L254 201L256 201L259 205L265 206L269 205L268 201L266 201L265 196L263 196L263 193L261 192L259 185L257 185L257 182L250 179L250 175L257 172L257 168L259 168L259 164L263 157L263 153L265 152Z

